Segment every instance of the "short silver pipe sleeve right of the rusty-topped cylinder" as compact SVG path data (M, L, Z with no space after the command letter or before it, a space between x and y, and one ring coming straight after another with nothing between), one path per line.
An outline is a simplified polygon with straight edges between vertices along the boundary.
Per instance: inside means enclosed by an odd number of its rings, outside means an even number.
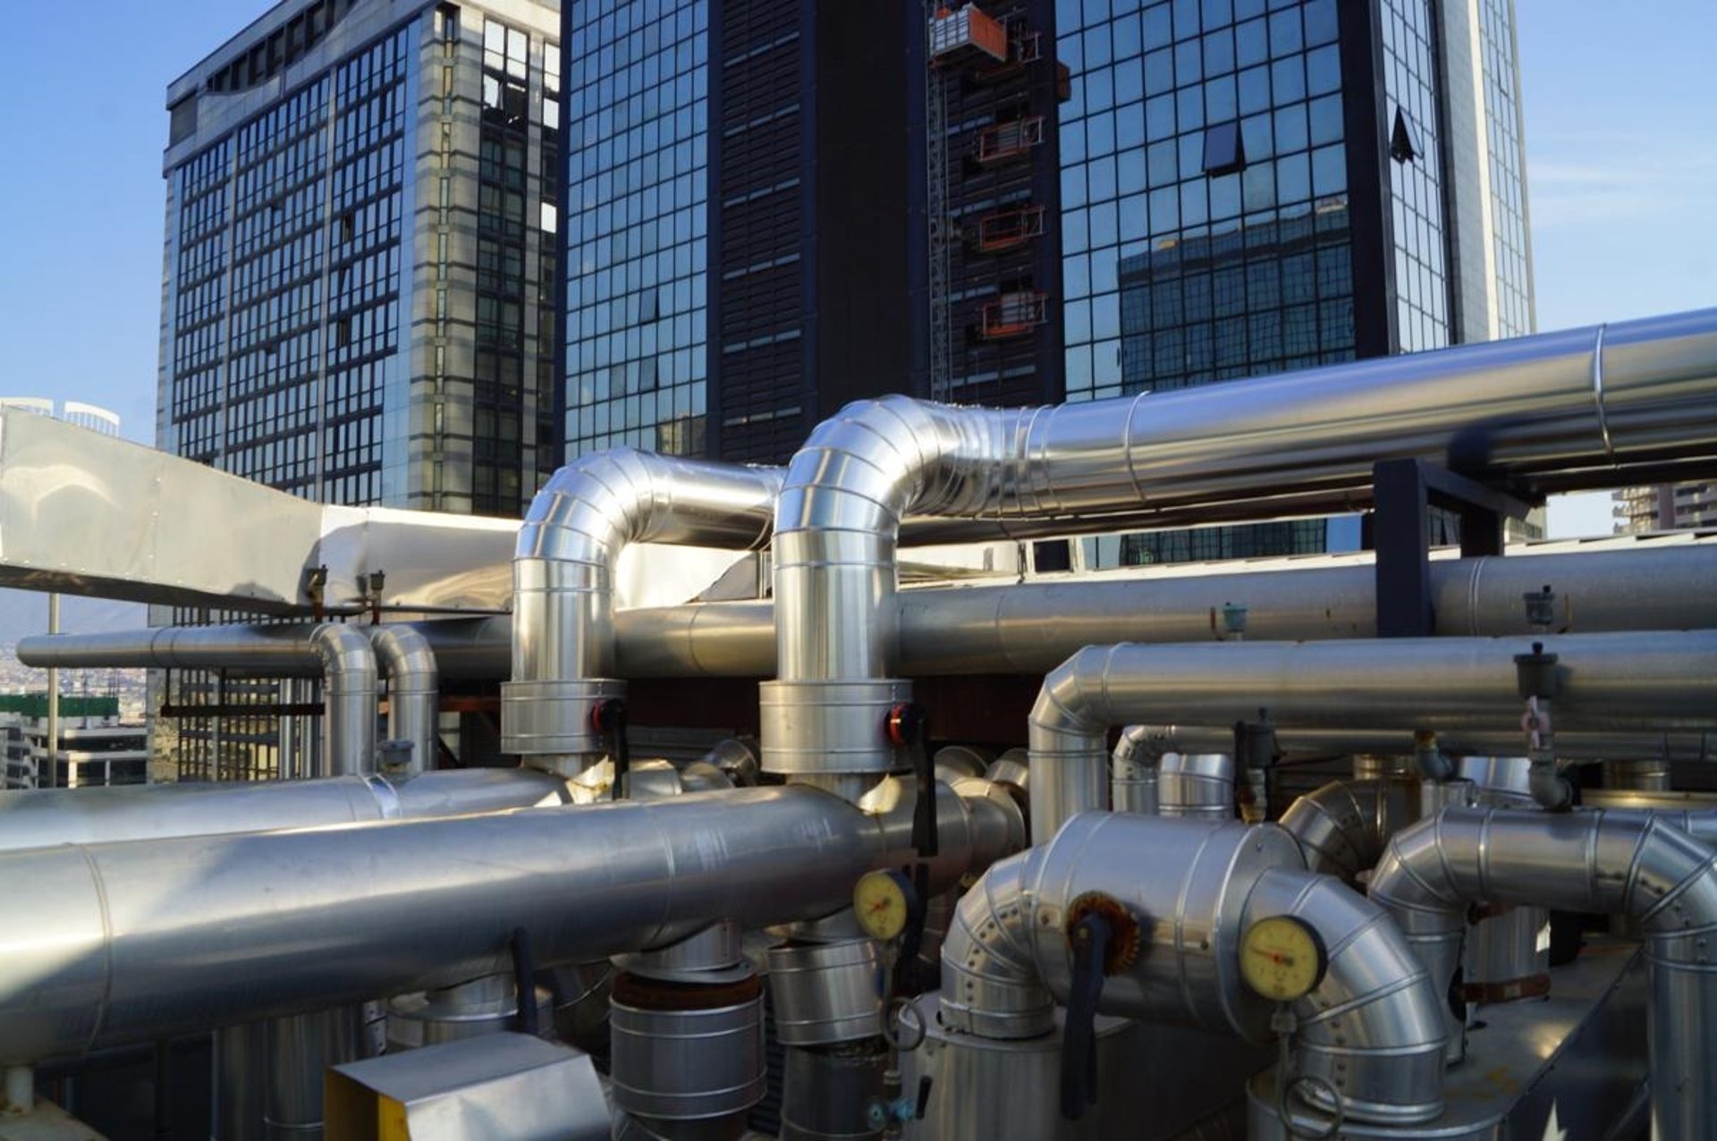
M769 947L764 963L783 1045L834 1045L881 1033L881 957L872 940L790 942Z

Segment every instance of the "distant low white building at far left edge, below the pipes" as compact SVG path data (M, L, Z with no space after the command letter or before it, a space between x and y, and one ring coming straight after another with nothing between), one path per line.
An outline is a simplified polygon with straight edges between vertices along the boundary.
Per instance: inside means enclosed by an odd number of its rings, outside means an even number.
M0 693L5 788L144 784L149 731L125 724L117 697L60 697L58 741L48 741L46 693Z

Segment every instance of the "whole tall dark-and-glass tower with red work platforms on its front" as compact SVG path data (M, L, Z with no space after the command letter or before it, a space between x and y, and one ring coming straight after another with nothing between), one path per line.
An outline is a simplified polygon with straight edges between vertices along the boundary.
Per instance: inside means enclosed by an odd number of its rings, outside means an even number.
M572 453L780 462L864 395L1089 400L1533 331L1511 0L561 15Z

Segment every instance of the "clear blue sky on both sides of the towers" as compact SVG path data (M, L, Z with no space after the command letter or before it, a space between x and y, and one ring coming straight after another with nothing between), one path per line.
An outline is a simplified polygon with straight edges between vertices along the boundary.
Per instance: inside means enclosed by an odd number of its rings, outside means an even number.
M1538 326L1717 304L1717 5L1518 0ZM0 393L149 441L163 91L266 3L15 5L0 70ZM1607 506L1557 513L1604 530Z

